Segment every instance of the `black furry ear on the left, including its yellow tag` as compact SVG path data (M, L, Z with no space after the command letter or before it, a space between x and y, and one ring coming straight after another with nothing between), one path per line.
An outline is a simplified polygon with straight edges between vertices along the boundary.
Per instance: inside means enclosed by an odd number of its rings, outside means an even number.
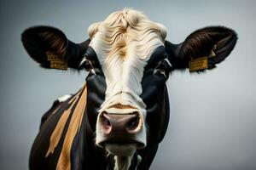
M21 35L26 52L44 68L78 69L90 39L74 43L59 29L51 26L34 26Z

